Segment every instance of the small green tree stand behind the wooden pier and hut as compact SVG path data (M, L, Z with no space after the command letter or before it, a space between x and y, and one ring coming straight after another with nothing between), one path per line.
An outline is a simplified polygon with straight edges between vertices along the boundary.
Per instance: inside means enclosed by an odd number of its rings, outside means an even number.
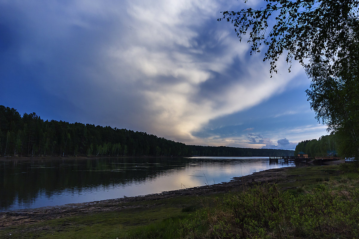
M309 157L327 156L327 151L336 151L335 135L325 135L319 139L304 140L295 147L295 155L299 152L307 153Z

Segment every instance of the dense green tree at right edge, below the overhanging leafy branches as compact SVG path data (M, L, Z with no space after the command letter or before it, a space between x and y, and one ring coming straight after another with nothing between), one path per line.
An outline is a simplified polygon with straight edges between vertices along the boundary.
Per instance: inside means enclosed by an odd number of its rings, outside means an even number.
M336 62L314 61L306 72L311 82L307 90L316 119L340 138L343 156L359 156L359 21L353 20L343 39Z

